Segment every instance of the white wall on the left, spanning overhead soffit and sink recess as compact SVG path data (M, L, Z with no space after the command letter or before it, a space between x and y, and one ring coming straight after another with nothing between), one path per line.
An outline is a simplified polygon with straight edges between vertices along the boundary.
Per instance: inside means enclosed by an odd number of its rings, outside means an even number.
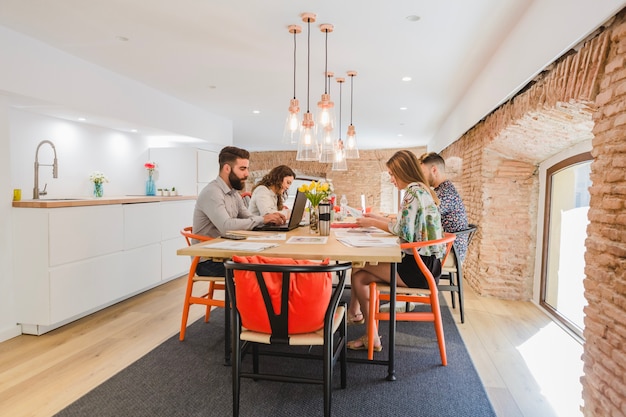
M15 97L35 99L86 115L123 120L169 134L200 139L203 149L232 144L232 122L77 59L0 26L0 341L19 334L14 305L11 206L13 188L32 198L37 144L51 140L59 178L40 168L47 198L88 196L93 170L107 174L105 196L144 194L149 147L172 146L167 137L147 137L37 115L12 106ZM28 100L27 100L28 101ZM34 108L33 111L37 111ZM40 163L52 161L50 148ZM178 184L177 184L178 185ZM17 210L17 209L15 209Z

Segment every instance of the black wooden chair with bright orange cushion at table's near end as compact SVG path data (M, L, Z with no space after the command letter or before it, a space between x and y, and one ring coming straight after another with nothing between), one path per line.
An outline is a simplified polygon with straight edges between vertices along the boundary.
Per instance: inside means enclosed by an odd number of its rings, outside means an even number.
M232 307L233 416L239 415L241 378L323 385L324 416L330 416L337 361L341 365L341 387L346 387L347 309L340 304L340 297L352 263L234 256L224 265ZM338 277L334 286L333 273ZM268 345L282 348L271 349ZM261 355L319 361L319 354L296 346L322 346L321 379L288 372L287 367L259 370ZM242 358L250 347L251 372L242 368Z

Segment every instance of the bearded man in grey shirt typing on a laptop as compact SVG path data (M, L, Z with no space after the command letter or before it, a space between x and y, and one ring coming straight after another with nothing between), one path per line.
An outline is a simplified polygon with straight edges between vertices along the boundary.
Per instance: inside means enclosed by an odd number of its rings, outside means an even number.
M253 216L239 192L244 189L249 175L250 152L235 146L220 151L220 172L198 195L193 212L193 233L220 237L229 230L251 230L265 223L284 224L282 213ZM201 276L224 276L224 264L204 260L198 263L196 273Z

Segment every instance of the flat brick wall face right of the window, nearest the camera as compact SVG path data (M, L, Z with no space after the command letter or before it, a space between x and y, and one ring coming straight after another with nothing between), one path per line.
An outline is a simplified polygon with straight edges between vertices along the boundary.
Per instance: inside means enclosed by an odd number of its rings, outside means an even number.
M593 114L590 224L585 254L583 413L626 415L626 13L610 48Z

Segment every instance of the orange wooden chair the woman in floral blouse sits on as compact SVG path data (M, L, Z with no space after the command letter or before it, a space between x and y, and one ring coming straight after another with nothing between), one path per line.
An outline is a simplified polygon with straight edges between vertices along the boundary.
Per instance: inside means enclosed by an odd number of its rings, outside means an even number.
M396 302L406 302L407 305L410 302L430 304L431 311L406 311L397 312L396 321L432 321L435 325L435 333L437 334L437 341L439 342L439 353L441 355L441 364L443 366L448 365L448 358L446 355L446 342L443 336L443 322L441 320L441 308L439 307L439 290L437 289L437 283L433 274L424 264L422 258L419 256L419 249L424 246L446 244L446 253L441 261L443 265L446 261L452 243L456 238L456 235L452 233L445 233L445 236L437 240L428 240L424 242L411 242L403 243L400 245L402 249L412 249L413 256L419 269L422 271L426 280L428 281L428 289L424 288L405 288L396 287ZM380 282L370 283L370 305L369 305L369 320L367 323L367 358L369 360L374 359L374 332L378 328L379 320L389 320L389 312L380 311L380 300L390 300L391 287L387 284Z

